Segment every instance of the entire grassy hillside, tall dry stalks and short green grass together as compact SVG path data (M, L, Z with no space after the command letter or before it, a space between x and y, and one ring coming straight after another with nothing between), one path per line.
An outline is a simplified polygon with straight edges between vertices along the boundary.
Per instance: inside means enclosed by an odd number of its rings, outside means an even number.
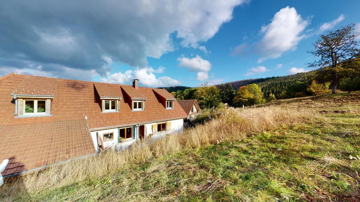
M0 201L360 201L360 92L227 109L130 150L7 179Z

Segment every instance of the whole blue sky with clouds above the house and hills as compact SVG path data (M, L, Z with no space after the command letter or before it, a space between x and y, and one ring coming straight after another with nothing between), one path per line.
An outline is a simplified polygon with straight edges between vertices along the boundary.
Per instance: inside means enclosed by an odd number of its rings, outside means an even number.
M13 1L0 8L0 74L143 86L309 71L311 43L360 1ZM14 26L15 25L15 26Z

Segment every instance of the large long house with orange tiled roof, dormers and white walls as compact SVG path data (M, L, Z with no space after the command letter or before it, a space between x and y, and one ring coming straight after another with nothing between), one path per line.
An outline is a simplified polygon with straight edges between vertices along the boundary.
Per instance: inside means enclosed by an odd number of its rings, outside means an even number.
M188 117L165 89L9 74L0 78L0 160L18 174L99 148L183 131Z

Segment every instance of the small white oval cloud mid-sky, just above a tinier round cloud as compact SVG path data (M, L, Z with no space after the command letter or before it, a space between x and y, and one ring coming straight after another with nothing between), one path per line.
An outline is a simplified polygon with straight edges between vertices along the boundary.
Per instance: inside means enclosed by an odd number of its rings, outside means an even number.
M179 57L177 58L177 61L179 61L180 67L186 67L190 71L207 72L210 71L211 69L211 63L207 60L204 60L198 55L196 55L196 57L193 58Z

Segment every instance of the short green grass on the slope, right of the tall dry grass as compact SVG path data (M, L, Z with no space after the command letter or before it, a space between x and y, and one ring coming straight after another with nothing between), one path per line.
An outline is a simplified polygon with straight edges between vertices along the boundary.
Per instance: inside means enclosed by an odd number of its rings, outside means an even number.
M353 111L358 111L357 101L352 101ZM348 109L347 105L344 101L338 107L324 109ZM350 160L349 156L360 154L359 131L358 113L321 113L311 123L183 150L41 193L22 191L14 199L355 202L360 201L360 179L356 175L360 160Z

